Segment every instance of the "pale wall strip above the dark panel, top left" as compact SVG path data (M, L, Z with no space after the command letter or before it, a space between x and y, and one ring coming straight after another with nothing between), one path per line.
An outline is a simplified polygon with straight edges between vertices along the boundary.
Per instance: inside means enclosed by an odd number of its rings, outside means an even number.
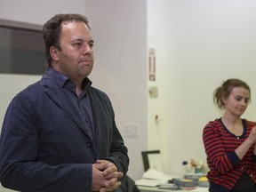
M0 18L43 25L54 14L84 13L84 0L1 0Z

